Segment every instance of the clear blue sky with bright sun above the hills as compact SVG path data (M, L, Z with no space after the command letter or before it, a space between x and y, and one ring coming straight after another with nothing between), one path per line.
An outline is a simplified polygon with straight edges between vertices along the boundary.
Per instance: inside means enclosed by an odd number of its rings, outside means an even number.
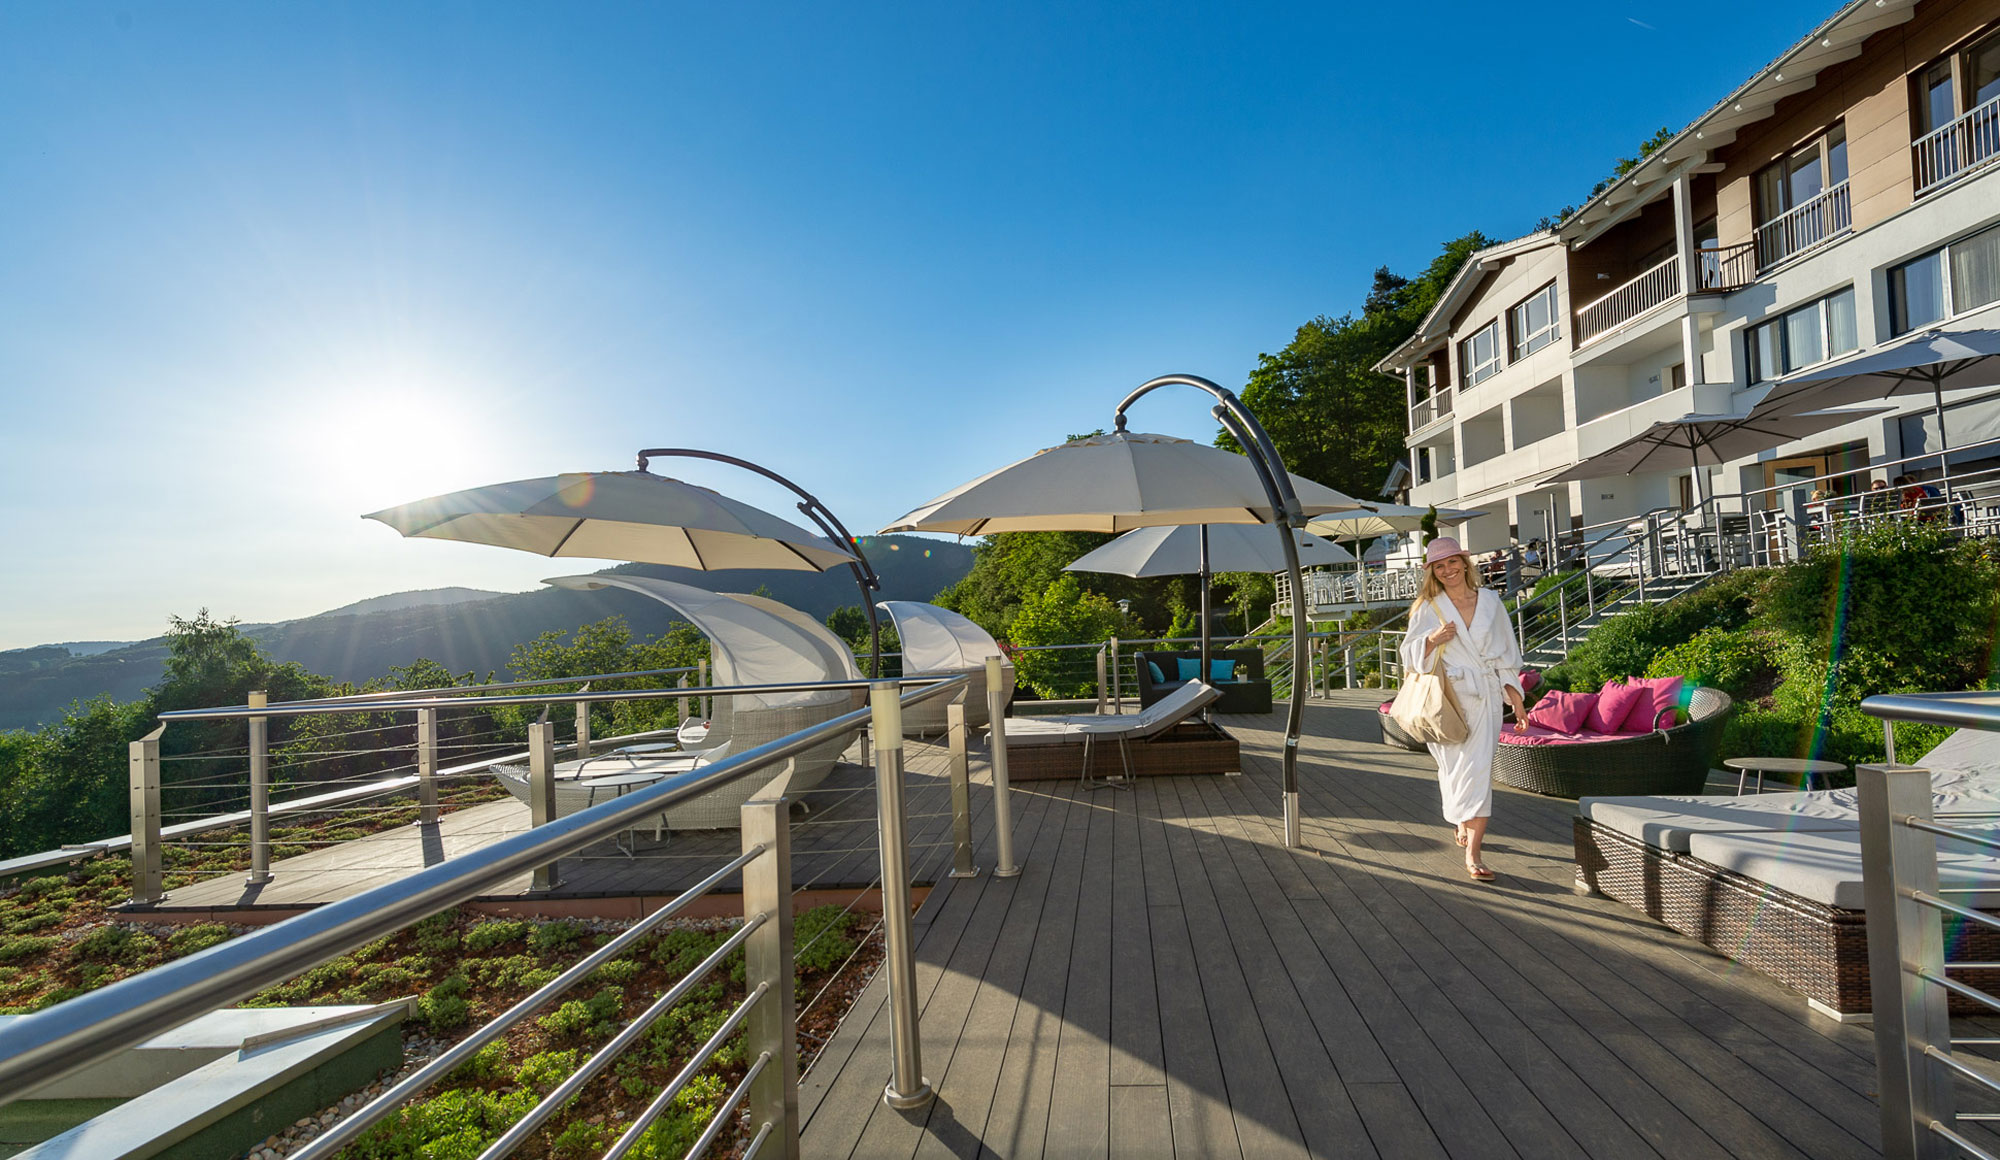
M356 516L640 446L874 530L1580 202L1830 4L1522 12L4 6L0 648L530 588L580 568Z

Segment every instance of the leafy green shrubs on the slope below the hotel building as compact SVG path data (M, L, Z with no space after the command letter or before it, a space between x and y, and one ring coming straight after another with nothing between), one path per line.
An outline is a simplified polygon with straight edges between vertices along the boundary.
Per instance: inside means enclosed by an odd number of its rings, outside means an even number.
M1606 620L1546 676L1574 692L1628 676L1720 688L1736 700L1722 758L1880 762L1882 722L1860 702L1992 686L1996 622L2000 546L1892 522ZM1948 734L1898 722L1896 756L1916 760Z

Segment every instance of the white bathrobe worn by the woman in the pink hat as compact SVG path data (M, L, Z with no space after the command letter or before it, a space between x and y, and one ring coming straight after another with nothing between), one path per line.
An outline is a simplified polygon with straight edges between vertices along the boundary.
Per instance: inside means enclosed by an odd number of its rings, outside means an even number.
M1450 596L1438 596L1410 614L1410 634L1402 640L1404 672L1428 668L1424 638L1444 624L1440 612L1458 626L1458 636L1444 646L1444 674L1452 680L1468 728L1462 744L1432 744L1430 756L1438 762L1444 820L1456 826L1494 812L1494 750L1500 746L1500 714L1506 712L1500 690L1520 692L1520 642L1492 588L1480 588L1470 626L1458 616Z

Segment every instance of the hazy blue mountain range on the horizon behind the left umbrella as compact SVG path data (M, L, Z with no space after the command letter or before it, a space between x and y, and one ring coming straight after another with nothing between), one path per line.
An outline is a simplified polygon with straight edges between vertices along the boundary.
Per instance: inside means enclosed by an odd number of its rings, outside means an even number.
M930 600L972 570L972 548L914 536L862 540L882 578L878 600ZM560 572L560 562L552 562ZM696 572L658 564L620 564L604 572L658 576L710 592L766 590L824 620L842 606L860 604L854 576L836 572L726 570ZM280 624L244 624L242 630L274 660L296 660L334 680L364 682L390 668L430 658L452 672L506 674L516 644L542 632L568 632L582 624L622 616L638 638L658 636L674 624L674 610L636 592L606 588L572 592L482 592L430 588L358 600L318 616ZM0 728L38 728L62 716L72 700L108 694L138 700L158 684L166 638L136 642L38 644L0 652Z

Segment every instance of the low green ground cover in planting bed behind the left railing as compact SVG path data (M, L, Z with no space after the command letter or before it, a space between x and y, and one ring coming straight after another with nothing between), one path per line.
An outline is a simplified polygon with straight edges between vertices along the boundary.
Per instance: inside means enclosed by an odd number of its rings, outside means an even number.
M128 896L130 862L122 858L86 862L0 892L0 1002L6 1012L40 1010L250 930L214 922L124 922L112 906ZM414 1066L554 980L622 926L450 910L272 986L244 1006L414 1000L414 1014L404 1024L406 1044L416 1048ZM736 926L736 920L670 922L646 936L366 1132L344 1156L478 1156L620 1026L712 954ZM822 906L798 916L794 948L804 1068L880 962L880 938L868 916ZM736 952L518 1154L548 1160L602 1154L744 994L744 962ZM682 1156L742 1078L744 1066L740 1042L728 1044L632 1156ZM304 1138L310 1132L294 1134L290 1142ZM724 1140L730 1140L728 1132ZM288 1140L266 1144L282 1152ZM730 1148L718 1146L714 1154L726 1156Z

